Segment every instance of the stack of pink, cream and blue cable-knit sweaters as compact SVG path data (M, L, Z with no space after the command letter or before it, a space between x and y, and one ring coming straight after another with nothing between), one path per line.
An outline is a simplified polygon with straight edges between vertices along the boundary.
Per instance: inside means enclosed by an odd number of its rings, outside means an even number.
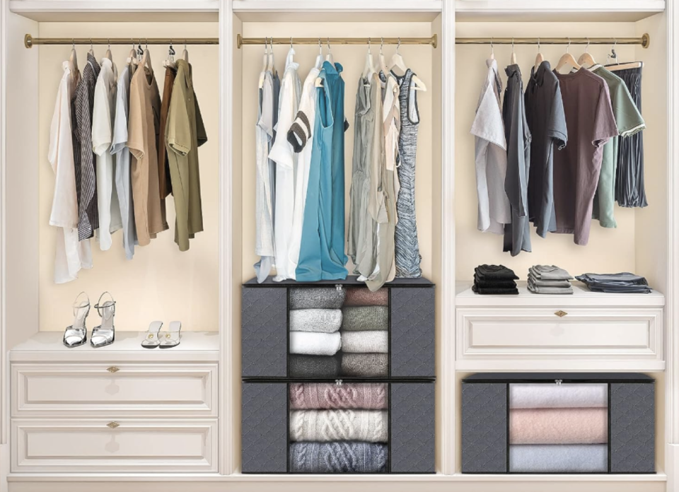
M296 382L289 402L290 472L386 472L387 385Z

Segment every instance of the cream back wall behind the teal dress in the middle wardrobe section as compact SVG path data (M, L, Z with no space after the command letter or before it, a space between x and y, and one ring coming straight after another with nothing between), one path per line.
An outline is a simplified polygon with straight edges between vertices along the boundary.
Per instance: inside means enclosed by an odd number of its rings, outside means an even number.
M372 53L376 65L380 49L380 37L428 37L431 35L431 23L243 23L244 37L373 37ZM283 76L285 57L289 45L274 45L275 63L279 75ZM255 276L253 264L258 261L255 256L255 123L257 119L257 80L262 70L264 47L258 45L243 48L243 281ZM298 74L303 83L308 71L318 54L318 45L294 45L295 60L300 64ZM344 203L346 207L345 228L348 227L349 189L352 182L352 158L354 154L354 108L356 105L356 89L361 71L366 62L366 49L363 46L337 45L331 46L335 62L342 65L344 79L344 116L349 122L349 129L344 134ZM396 47L385 45L383 52L389 63ZM327 45L323 43L323 54ZM419 106L419 133L417 138L417 164L415 177L415 201L417 211L417 230L419 248L422 254L423 275L430 278L433 264L433 187L440 187L439 177L434 177L432 161L434 153L433 134L440 131L440 123L434 122L431 102L436 84L432 80L432 48L427 45L400 47L405 63L425 83L427 92L417 93ZM436 225L438 227L438 225ZM345 245L346 251L346 245ZM352 274L351 259L347 264Z

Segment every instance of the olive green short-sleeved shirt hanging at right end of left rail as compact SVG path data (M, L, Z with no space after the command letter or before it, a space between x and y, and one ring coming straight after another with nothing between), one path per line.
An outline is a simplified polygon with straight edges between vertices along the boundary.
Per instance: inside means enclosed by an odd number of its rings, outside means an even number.
M207 142L207 133L192 77L191 65L185 60L177 60L177 76L165 130L175 199L175 242L180 251L187 251L189 240L203 230L198 147Z

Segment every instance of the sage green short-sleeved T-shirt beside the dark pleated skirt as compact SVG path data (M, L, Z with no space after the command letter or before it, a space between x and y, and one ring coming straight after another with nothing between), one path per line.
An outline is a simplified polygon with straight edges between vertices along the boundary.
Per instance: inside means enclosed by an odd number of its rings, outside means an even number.
M646 123L641 113L634 105L632 96L625 86L625 81L617 75L606 70L601 65L595 65L589 69L593 74L603 78L608 85L610 105L613 109L613 117L617 132L620 136L614 136L603 146L601 158L601 172L599 182L594 195L592 217L598 219L602 227L615 228L617 223L613 215L615 208L615 176L617 174L617 154L619 152L620 138L632 136L646 128Z

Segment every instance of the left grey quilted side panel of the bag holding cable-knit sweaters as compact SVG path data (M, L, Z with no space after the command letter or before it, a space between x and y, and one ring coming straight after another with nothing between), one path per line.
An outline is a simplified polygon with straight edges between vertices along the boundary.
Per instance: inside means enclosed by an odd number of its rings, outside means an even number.
M288 385L244 382L241 418L243 473L285 473L288 455Z

